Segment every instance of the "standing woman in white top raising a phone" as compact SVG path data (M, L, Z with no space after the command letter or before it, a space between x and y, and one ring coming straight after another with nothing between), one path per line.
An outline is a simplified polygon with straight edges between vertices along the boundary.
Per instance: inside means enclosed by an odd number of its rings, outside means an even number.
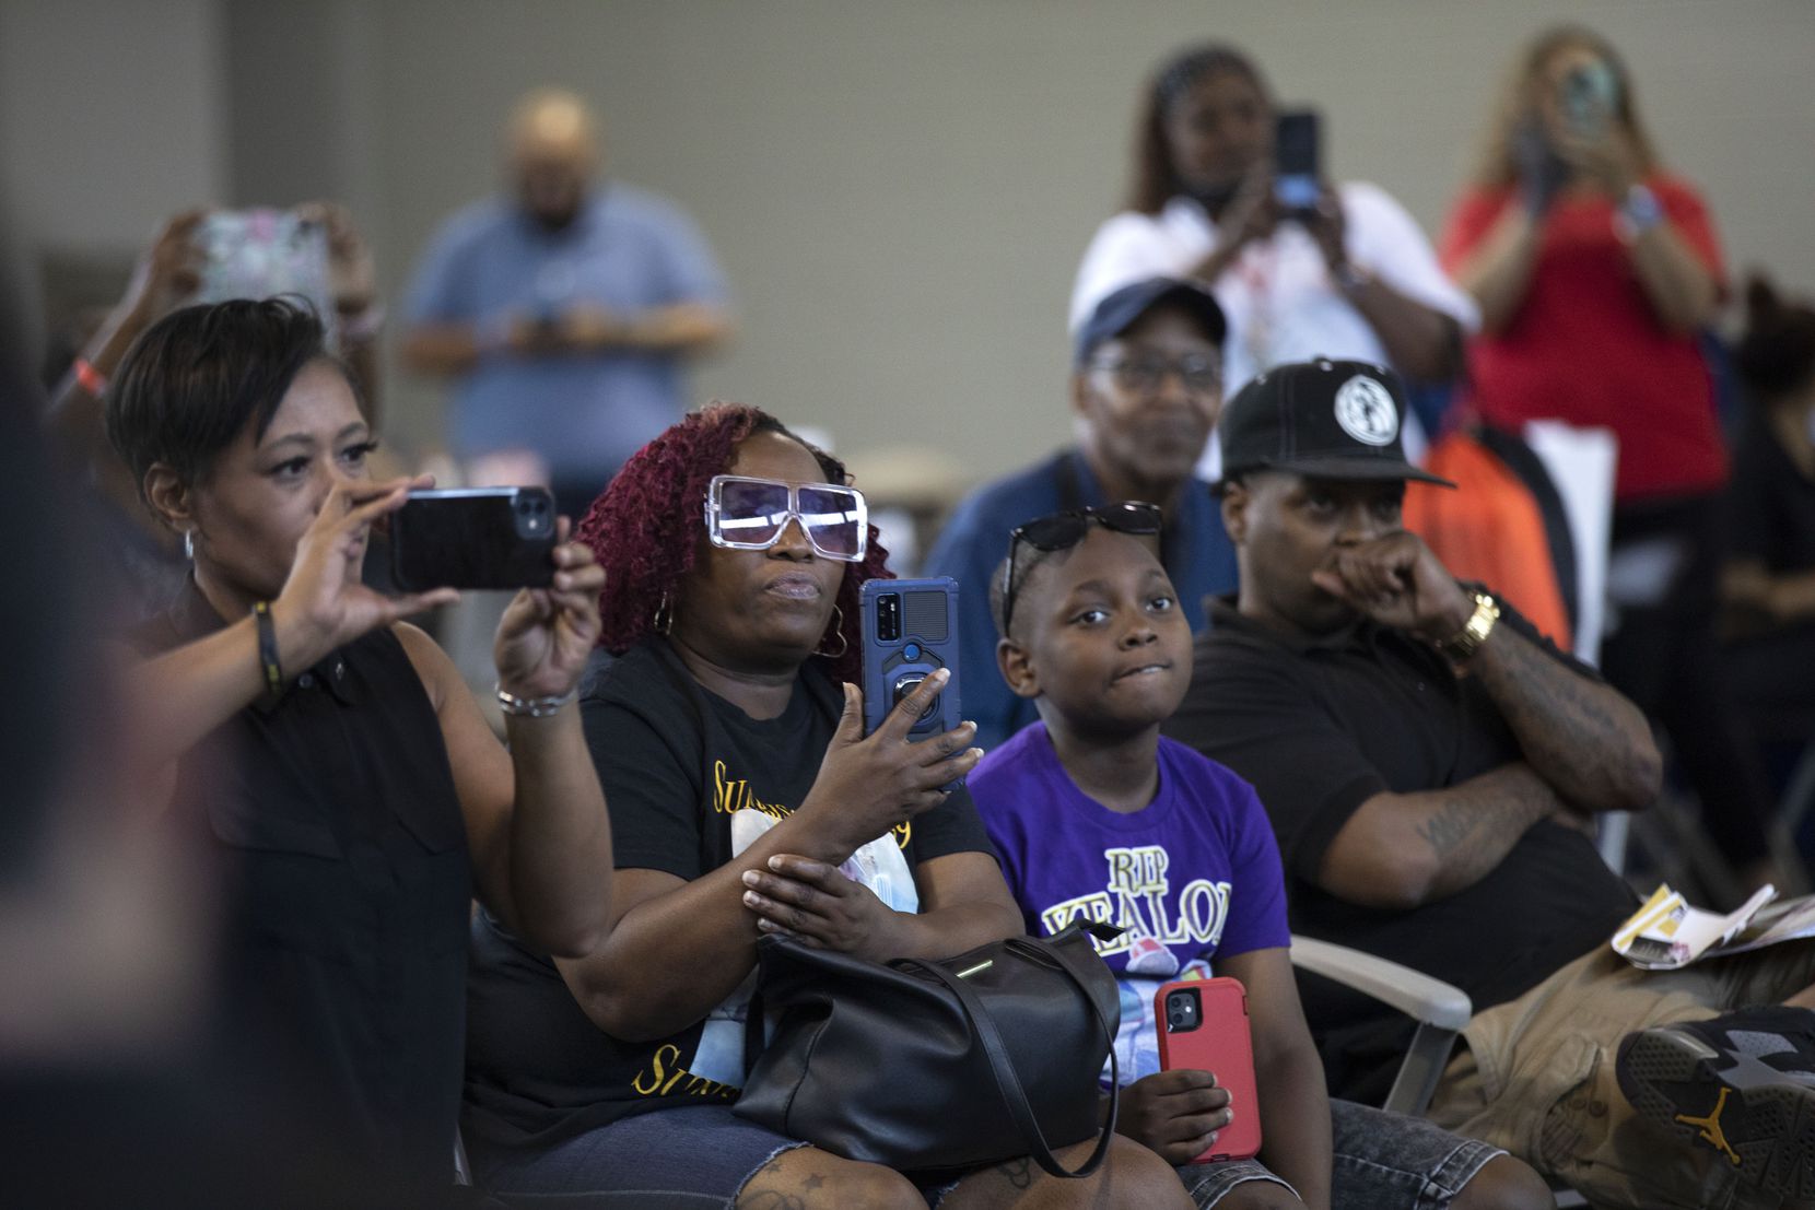
M1476 310L1418 223L1363 183L1323 183L1314 210L1287 216L1272 141L1272 96L1243 53L1200 45L1162 67L1136 131L1129 209L1084 254L1073 325L1129 281L1198 278L1229 316L1229 394L1267 366L1312 357L1448 379Z

